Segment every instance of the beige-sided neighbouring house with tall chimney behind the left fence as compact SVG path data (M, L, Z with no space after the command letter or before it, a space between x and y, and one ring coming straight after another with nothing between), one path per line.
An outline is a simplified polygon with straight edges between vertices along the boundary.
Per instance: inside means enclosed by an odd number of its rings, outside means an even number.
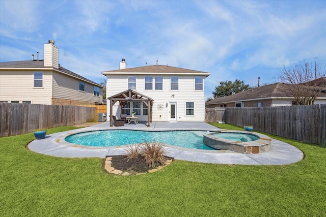
M59 65L59 48L44 44L44 60L0 63L0 102L100 105L103 87Z

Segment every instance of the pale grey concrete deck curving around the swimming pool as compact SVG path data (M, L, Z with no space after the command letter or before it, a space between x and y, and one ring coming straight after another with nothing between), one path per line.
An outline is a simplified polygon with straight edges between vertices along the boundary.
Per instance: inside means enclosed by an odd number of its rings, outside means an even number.
M140 122L138 125L130 124L122 127L110 127L109 122L99 122L98 124L71 131L65 131L46 135L45 139L34 140L28 148L31 151L55 157L65 158L102 158L125 154L125 146L118 147L91 147L80 146L67 143L63 138L74 133L95 130L128 129L128 130L203 130L218 131L205 122L152 122L150 127L146 123ZM267 152L255 154L242 154L224 150L197 150L167 146L167 156L176 160L213 163L213 164L239 164L239 165L286 165L301 161L304 153L296 147L285 142L272 139L271 147Z

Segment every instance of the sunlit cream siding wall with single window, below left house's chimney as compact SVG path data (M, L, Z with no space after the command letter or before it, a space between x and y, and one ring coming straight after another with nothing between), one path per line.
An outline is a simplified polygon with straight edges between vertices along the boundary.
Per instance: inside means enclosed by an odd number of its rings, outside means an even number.
M43 87L34 88L34 72L43 72ZM0 71L0 101L31 101L51 104L51 72L42 70Z

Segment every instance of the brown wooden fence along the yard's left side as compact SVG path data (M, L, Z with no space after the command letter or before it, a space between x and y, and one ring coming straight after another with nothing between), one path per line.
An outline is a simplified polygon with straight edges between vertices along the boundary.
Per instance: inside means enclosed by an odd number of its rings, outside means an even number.
M96 109L84 106L0 103L0 137L92 122Z

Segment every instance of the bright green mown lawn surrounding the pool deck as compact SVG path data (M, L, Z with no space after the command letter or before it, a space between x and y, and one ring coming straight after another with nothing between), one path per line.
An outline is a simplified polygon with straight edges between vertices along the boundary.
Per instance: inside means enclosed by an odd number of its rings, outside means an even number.
M230 125L220 128L241 129ZM75 129L61 127L55 133ZM326 148L276 136L305 153L285 166L174 161L145 175L104 172L98 158L25 148L33 134L0 138L2 216L326 216Z

